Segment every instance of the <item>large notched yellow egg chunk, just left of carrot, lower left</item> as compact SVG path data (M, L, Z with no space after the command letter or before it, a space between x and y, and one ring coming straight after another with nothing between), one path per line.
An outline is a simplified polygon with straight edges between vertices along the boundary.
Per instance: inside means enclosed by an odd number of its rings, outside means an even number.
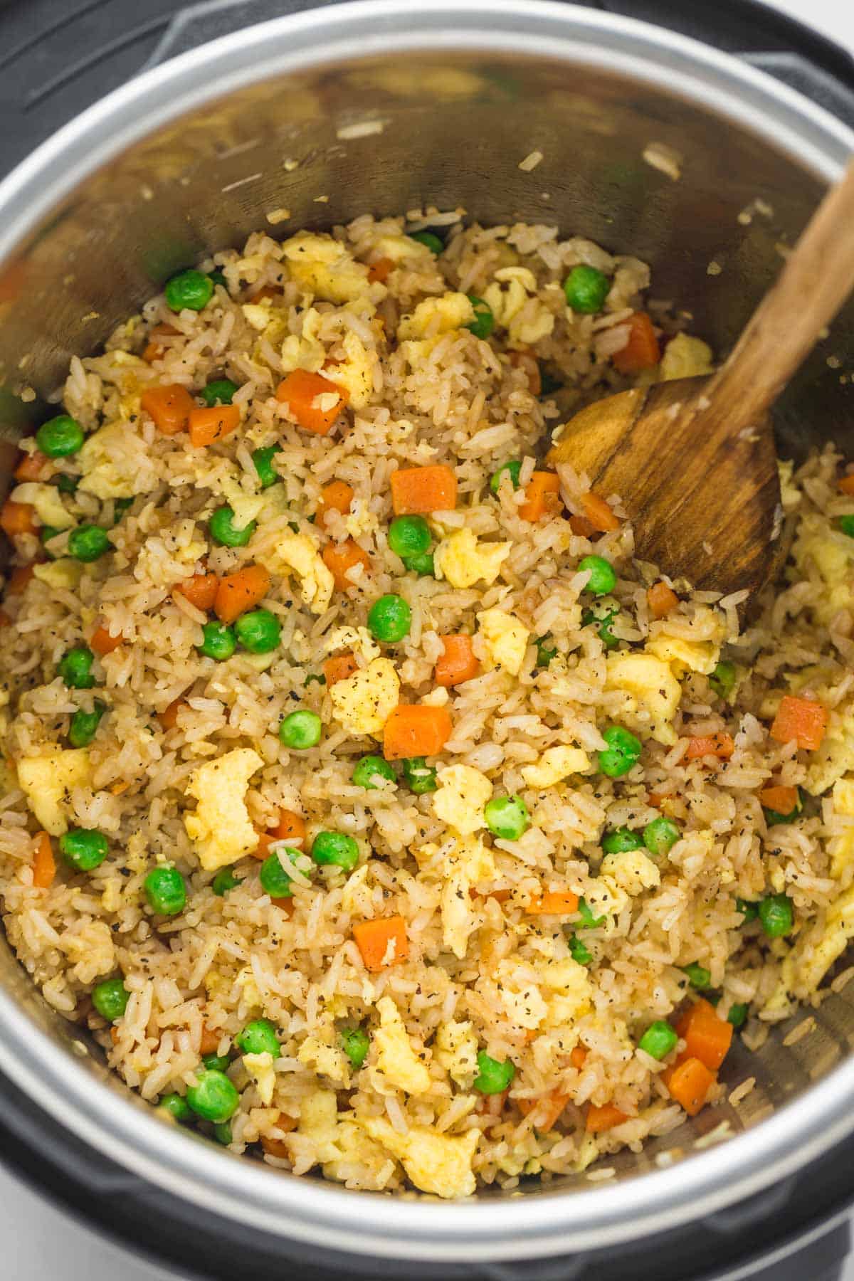
M246 808L246 789L264 761L251 747L225 752L200 765L187 784L198 806L184 815L187 835L207 872L236 863L257 847L257 833Z

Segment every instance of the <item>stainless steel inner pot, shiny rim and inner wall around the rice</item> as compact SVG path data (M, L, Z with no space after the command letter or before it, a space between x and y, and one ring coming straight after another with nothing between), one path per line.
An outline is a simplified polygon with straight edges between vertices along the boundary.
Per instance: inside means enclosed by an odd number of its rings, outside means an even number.
M644 160L650 143L679 154L679 181ZM274 234L428 205L557 223L652 263L654 296L725 351L853 149L835 119L736 59L572 5L365 0L245 29L113 94L0 186L0 466L72 355L270 210L291 210ZM543 160L526 172L534 150ZM851 442L853 360L849 309L786 396L784 453ZM458 1205L348 1193L164 1126L47 1009L5 943L0 981L0 1068L51 1116L189 1202L341 1250L438 1261L607 1246L737 1203L854 1129L851 985L796 1044L782 1025L758 1054L736 1048L725 1076L755 1076L749 1098L620 1154L611 1182ZM734 1138L695 1150L723 1121Z

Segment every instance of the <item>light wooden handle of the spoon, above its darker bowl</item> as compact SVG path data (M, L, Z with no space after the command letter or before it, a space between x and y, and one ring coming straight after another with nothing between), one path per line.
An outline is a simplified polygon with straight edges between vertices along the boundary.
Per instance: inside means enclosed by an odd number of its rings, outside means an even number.
M854 161L810 218L707 396L731 430L758 427L822 329L854 291ZM737 419L737 425L735 419Z

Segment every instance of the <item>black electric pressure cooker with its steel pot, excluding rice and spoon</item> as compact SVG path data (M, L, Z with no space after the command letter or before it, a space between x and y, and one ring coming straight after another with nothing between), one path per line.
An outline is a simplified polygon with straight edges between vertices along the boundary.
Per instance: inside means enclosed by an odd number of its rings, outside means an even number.
M746 0L24 0L0 37L6 474L72 355L271 210L291 211L277 236L430 205L557 223L652 263L656 297L726 351L854 151L851 60ZM849 307L786 393L784 455L850 456L853 369ZM184 1276L832 1281L854 983L790 1036L805 1013L729 1056L731 1090L755 1077L743 1102L620 1153L612 1179L453 1204L297 1180L164 1125L1 943L0 1158Z

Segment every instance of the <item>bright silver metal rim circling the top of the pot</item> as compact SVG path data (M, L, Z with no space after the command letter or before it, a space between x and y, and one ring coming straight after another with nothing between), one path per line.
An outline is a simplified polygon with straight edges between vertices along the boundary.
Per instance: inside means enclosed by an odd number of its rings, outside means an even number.
M387 53L478 50L585 63L732 120L827 182L854 133L800 94L705 45L551 0L357 0L277 18L143 72L60 129L0 183L0 261L82 181L187 111L265 78ZM465 1203L353 1193L188 1141L102 1084L0 990L0 1070L102 1155L179 1199L273 1235L357 1254L533 1258L676 1227L778 1182L854 1130L854 1059L750 1132L670 1168L561 1194Z

